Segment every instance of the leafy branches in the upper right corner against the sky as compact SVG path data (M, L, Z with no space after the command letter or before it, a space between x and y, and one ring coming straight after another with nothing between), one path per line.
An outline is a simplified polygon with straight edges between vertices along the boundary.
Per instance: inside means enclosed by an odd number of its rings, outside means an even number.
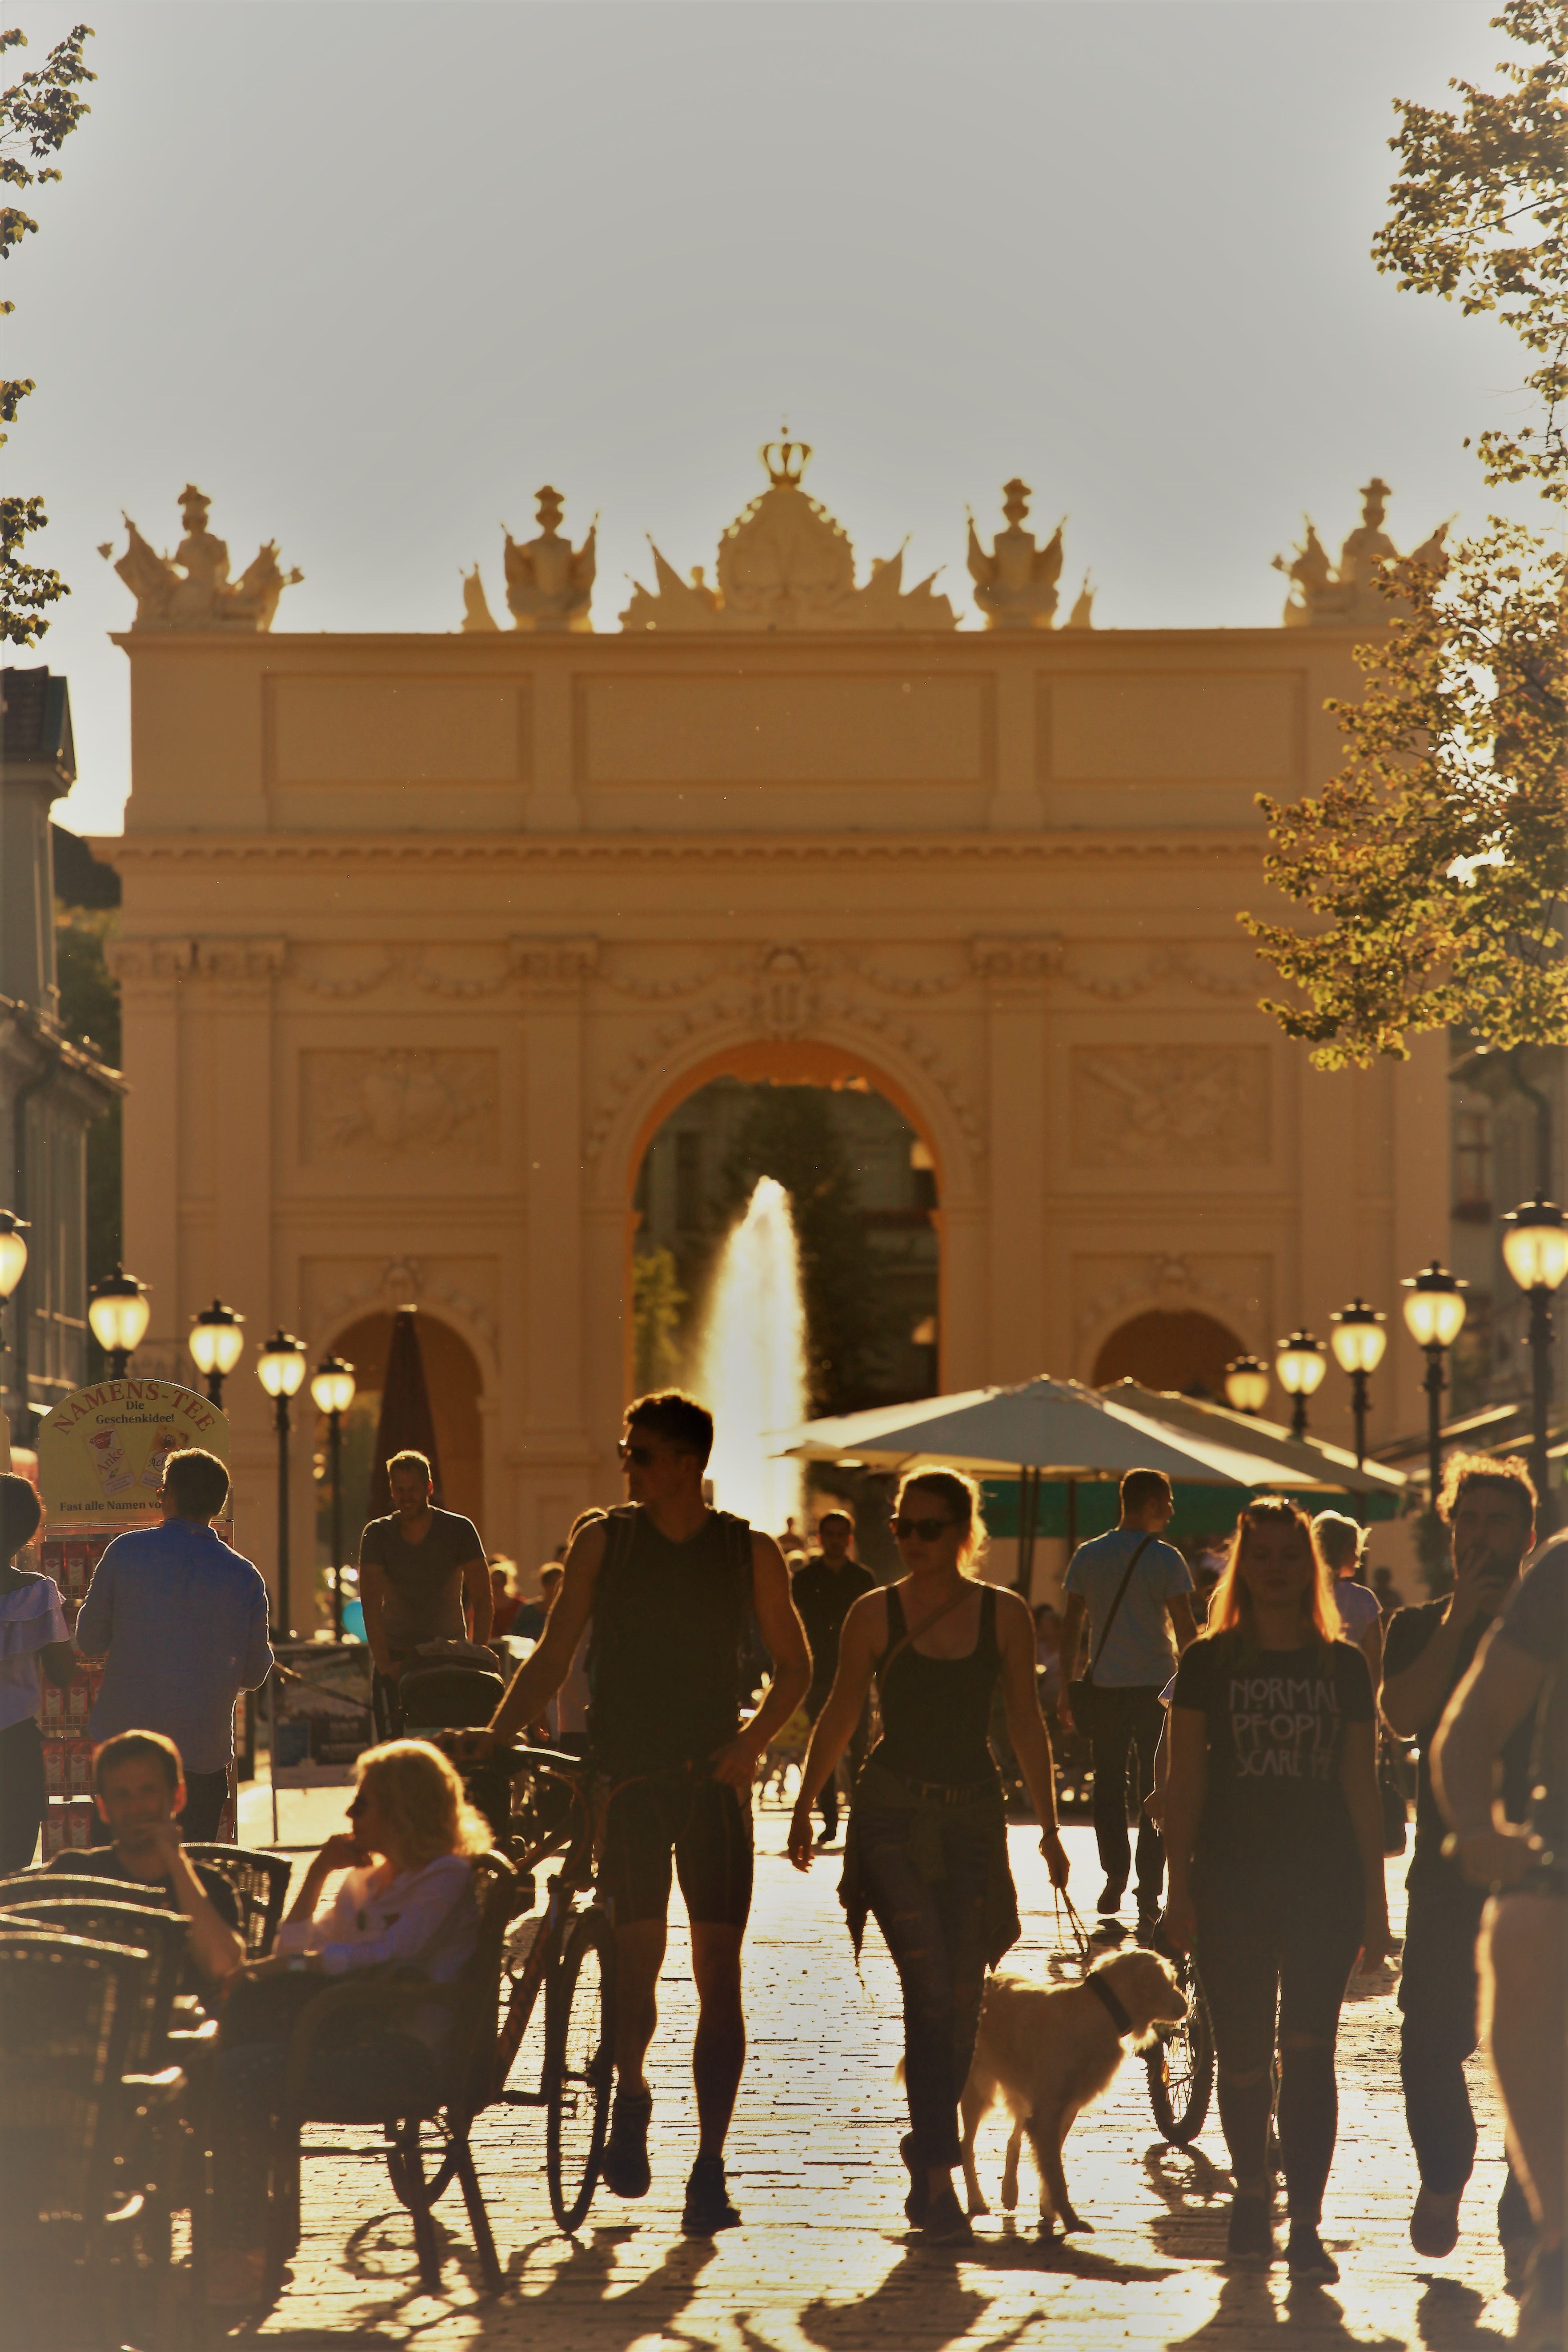
M1373 261L1401 289L1458 296L1467 318L1495 310L1537 365L1526 388L1544 423L1481 435L1488 482L1568 485L1561 409L1568 400L1568 7L1507 0L1493 26L1537 52L1502 59L1502 89L1450 82L1458 113L1399 101L1389 141L1401 179Z

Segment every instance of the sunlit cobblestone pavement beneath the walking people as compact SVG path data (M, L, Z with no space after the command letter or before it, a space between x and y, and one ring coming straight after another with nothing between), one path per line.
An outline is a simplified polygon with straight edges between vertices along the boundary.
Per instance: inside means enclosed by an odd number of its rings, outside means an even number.
M299 1799L289 1799L299 1806ZM327 1835L336 1820L315 1820ZM294 1823L301 1828L294 1828ZM484 2303L461 2199L449 2192L447 2293L418 2288L409 2223L369 2133L317 2131L329 2150L306 2161L306 2234L294 2279L268 2314L261 2345L310 2352L343 2345L484 2345L559 2352L1004 2352L1060 2343L1253 2352L1274 2343L1425 2345L1462 2352L1507 2343L1514 2305L1502 2291L1493 2209L1502 2145L1490 2086L1476 2063L1481 2161L1465 2232L1446 2263L1422 2263L1406 2237L1415 2164L1399 2100L1399 2013L1392 1978L1352 1999L1340 2034L1340 2147L1324 2237L1342 2279L1291 2288L1225 2274L1225 2143L1211 2110L1192 2150L1166 2147L1150 2117L1145 2070L1126 2060L1100 2107L1067 2143L1067 2183L1093 2237L1072 2251L1032 2234L1034 2180L1025 2161L1018 2225L992 2213L978 2244L922 2246L903 2220L898 2136L903 2098L896 1978L875 1929L860 1985L837 1905L837 1856L799 1879L783 1860L785 1816L757 1820L757 1903L748 1940L750 2058L729 2143L729 2178L745 2227L712 2244L679 2234L693 2154L689 2046L693 2023L684 1919L672 1926L654 2044L654 2190L618 2204L599 2190L576 2241L552 2223L543 2183L543 2114L484 2117L475 2129L505 2293ZM252 1832L254 1835L254 1832ZM306 1835L289 1813L284 1837ZM1067 1830L1079 1907L1098 1893L1093 1835ZM1051 1889L1034 1835L1013 1830L1023 1945L1009 1966L1048 1973L1056 1957ZM1389 1865L1394 1922L1403 1863ZM679 1898L677 1905L679 1910ZM1004 2129L980 2138L992 2197ZM1284 2237L1284 2232L1281 2232Z

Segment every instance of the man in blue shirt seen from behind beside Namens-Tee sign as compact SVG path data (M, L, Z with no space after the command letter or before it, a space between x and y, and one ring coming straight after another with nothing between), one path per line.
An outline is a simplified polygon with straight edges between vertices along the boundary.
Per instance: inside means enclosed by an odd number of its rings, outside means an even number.
M169 1454L162 1526L115 1536L75 1621L85 1658L108 1658L87 1722L94 1740L160 1731L186 1764L186 1842L219 1835L235 1757L235 1698L273 1665L261 1573L212 1522L228 1505L216 1454ZM108 1832L103 1832L108 1835Z

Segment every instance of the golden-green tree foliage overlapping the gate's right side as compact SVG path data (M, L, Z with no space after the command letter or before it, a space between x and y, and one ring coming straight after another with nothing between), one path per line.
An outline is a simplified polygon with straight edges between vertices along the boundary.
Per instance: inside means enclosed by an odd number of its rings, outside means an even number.
M1356 647L1359 703L1316 800L1260 795L1267 880L1309 927L1244 915L1295 1000L1265 1000L1321 1070L1406 1058L1410 1030L1568 1042L1563 557L1490 524L1448 574L1392 567L1385 644Z

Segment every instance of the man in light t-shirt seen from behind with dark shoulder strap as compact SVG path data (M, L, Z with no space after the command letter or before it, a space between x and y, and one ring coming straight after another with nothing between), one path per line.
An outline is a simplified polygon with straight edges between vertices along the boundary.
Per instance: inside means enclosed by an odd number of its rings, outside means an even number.
M1159 1889L1166 1875L1166 1849L1159 1830L1143 1811L1154 1785L1154 1750L1164 1729L1159 1693L1175 1670L1175 1656L1192 1642L1192 1571L1171 1543L1161 1543L1175 1498L1164 1470L1128 1470L1121 1479L1121 1517L1107 1536L1079 1543L1063 1585L1063 1700L1058 1722L1072 1731L1067 1686L1079 1675L1079 1644L1088 1618L1088 1658L1093 1661L1093 1813L1095 1844L1105 1870L1100 1912L1121 1910L1126 1875L1133 1863L1126 1835L1128 1776L1138 1804L1138 1933L1159 1924ZM1143 1545L1143 1550L1138 1550ZM1128 1562L1138 1566L1117 1606L1117 1592ZM1114 1613L1112 1613L1114 1611ZM1107 1632L1110 1625L1110 1632ZM1175 1639L1173 1639L1175 1637ZM1088 1661L1086 1661L1088 1663Z

